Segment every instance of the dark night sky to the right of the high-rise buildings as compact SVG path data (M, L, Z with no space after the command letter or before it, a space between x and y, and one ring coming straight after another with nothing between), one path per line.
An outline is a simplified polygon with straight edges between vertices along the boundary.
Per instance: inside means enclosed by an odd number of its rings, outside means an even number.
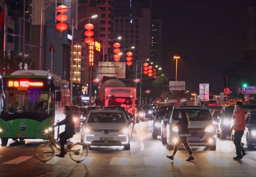
M247 8L166 2L152 0L152 19L163 20L163 73L175 77L179 55L178 81L186 89L198 93L199 83L209 83L213 94L223 92L225 68L247 49Z

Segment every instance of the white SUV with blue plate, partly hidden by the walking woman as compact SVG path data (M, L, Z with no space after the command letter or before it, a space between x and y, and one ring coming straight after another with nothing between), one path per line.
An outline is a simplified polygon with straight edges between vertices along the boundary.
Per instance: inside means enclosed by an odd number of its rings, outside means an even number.
M175 106L171 118L167 124L167 147L173 150L178 138L178 128L172 127L179 121L179 112L184 110L189 117L188 137L189 146L205 146L210 150L216 150L217 131L214 126L210 110L205 106Z

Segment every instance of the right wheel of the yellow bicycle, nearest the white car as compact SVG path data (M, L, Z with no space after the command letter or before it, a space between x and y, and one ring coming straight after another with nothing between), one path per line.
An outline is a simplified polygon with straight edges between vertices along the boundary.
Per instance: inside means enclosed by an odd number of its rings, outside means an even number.
M83 149L83 144L81 143L72 144L70 150L73 150L73 152L69 152L70 158L75 162L82 162L88 155L87 149Z

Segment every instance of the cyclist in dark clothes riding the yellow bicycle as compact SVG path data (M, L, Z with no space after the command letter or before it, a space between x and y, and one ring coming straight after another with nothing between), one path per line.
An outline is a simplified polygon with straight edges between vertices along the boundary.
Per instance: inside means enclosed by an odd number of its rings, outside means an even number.
M65 131L60 134L61 153L59 155L56 155L58 157L64 157L64 155L66 154L64 145L67 143L67 139L73 137L73 135L75 134L74 121L68 106L65 106L64 114L66 115L66 118L55 125L65 125Z

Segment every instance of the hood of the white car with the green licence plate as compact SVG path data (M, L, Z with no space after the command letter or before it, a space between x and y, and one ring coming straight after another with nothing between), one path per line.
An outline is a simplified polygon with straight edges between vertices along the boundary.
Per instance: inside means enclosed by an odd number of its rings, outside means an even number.
M104 130L114 130L129 128L128 123L86 123L86 128L90 129L104 129Z

